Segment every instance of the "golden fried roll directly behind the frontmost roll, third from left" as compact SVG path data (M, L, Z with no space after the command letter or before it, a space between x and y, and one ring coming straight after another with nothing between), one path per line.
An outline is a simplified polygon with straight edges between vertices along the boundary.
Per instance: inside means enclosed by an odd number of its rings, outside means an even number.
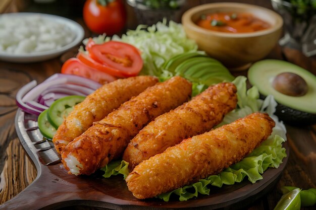
M220 83L176 109L156 117L128 144L123 160L133 169L183 139L209 131L223 120L225 114L236 108L236 92L234 84Z

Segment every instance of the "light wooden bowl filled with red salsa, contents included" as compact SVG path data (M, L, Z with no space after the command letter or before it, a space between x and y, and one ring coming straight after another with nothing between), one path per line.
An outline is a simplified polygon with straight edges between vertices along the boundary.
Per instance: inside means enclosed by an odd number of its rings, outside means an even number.
M238 70L269 54L281 36L283 20L255 5L212 3L186 11L182 24L200 50Z

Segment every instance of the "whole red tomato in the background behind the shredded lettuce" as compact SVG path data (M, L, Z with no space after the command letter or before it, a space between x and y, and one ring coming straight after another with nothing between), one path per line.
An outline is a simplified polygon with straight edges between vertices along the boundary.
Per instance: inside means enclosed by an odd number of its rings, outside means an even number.
M92 32L113 35L124 28L126 12L121 0L87 0L83 20Z

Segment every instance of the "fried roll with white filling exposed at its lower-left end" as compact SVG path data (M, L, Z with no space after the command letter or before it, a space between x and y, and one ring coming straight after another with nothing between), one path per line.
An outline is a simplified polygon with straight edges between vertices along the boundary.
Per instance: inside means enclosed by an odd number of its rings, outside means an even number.
M92 174L122 156L130 140L155 117L186 102L191 83L174 77L125 102L65 147L62 161L72 174Z

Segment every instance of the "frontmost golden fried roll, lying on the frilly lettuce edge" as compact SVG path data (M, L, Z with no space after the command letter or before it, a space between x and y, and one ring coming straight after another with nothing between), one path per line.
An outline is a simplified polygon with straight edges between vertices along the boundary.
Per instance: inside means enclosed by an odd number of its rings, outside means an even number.
M126 178L128 189L144 199L218 174L260 145L274 125L268 114L254 113L187 138L136 166Z

